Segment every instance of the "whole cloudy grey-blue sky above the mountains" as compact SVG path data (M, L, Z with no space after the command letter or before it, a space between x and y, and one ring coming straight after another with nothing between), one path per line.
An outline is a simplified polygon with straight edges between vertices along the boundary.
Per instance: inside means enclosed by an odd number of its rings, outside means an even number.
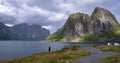
M120 0L0 0L0 22L38 24L53 33L70 14L91 15L95 7L108 9L120 22Z

